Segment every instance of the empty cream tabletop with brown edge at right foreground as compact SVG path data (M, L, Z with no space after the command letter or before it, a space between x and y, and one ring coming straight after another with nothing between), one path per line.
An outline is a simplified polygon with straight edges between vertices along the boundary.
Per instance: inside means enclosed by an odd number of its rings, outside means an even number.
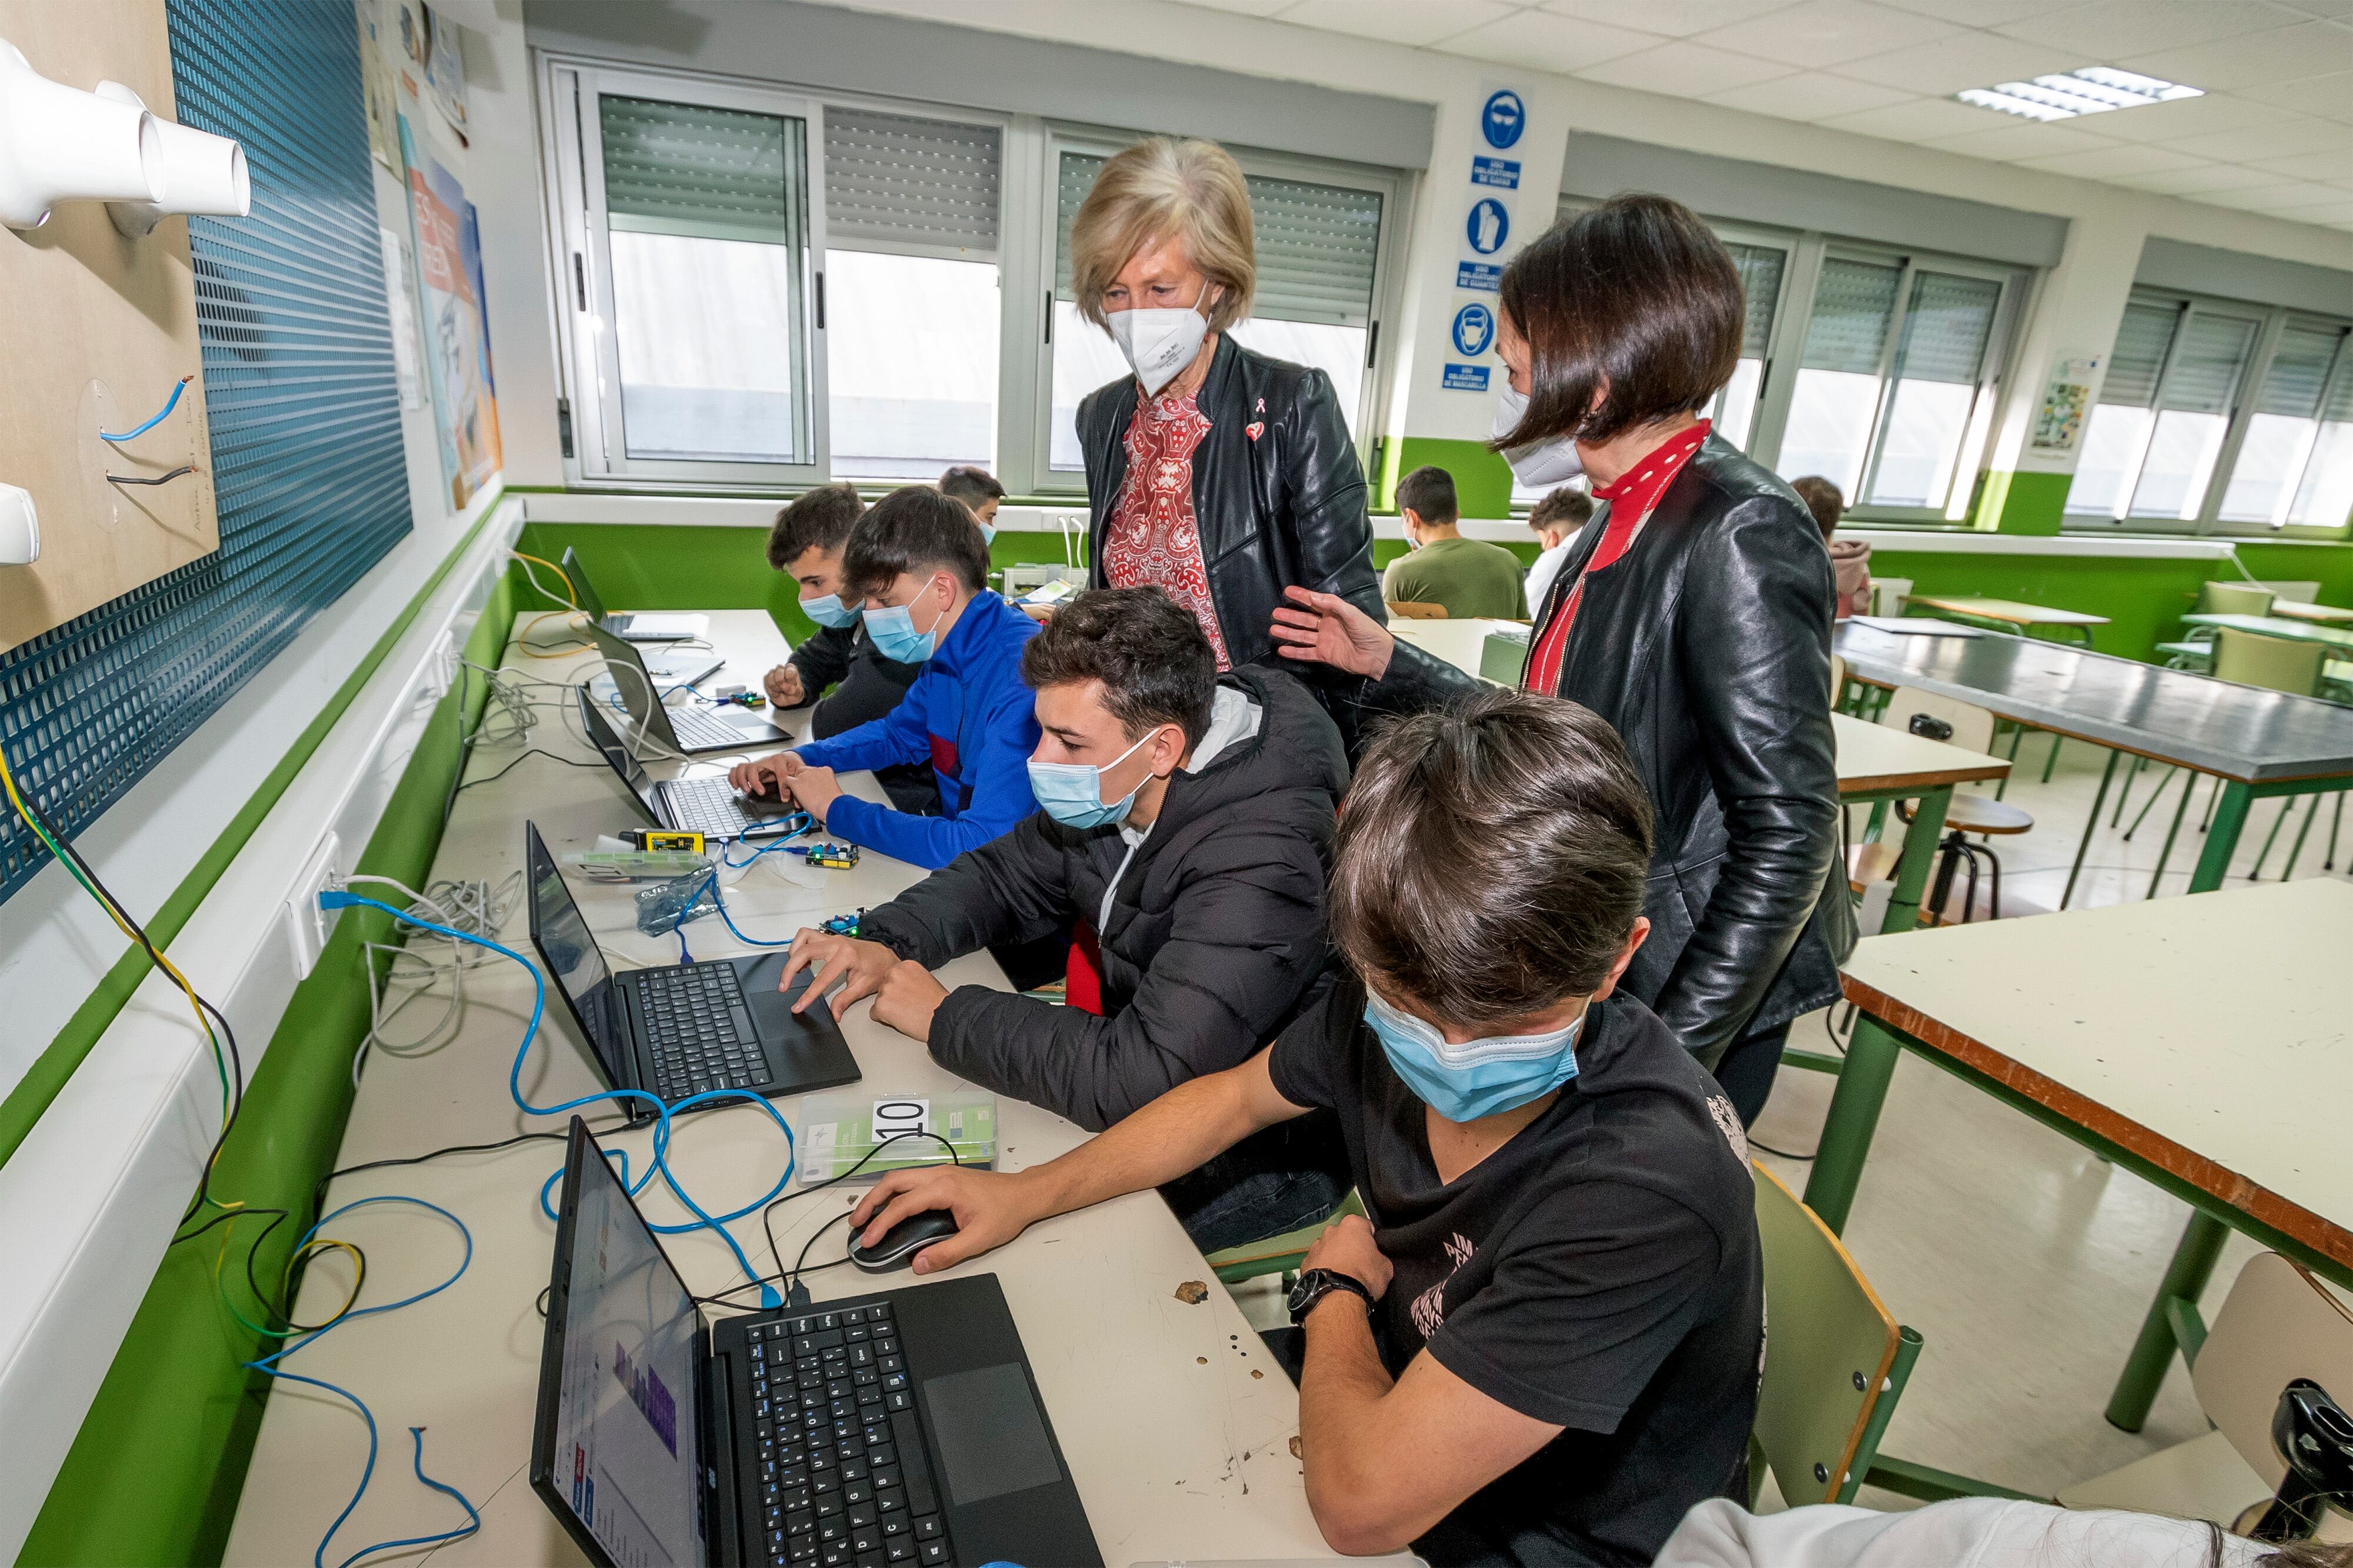
M1847 997L2353 1267L2353 884L1866 936Z

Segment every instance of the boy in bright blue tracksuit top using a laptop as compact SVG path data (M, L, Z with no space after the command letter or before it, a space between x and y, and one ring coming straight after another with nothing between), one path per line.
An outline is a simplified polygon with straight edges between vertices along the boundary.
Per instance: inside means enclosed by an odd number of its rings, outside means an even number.
M988 545L960 501L915 484L875 501L842 548L842 597L866 602L866 637L882 658L922 675L885 717L736 764L729 783L767 795L774 780L828 835L929 870L1038 811L1038 717L1021 682L1021 644L1038 623L988 592L986 574ZM939 816L892 811L835 783L835 771L894 762L932 764Z

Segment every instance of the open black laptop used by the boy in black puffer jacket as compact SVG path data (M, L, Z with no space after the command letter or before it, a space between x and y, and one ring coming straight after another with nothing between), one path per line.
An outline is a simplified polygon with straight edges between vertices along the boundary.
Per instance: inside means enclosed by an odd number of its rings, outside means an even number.
M614 973L532 823L522 825L522 860L532 884L532 947L588 1037L609 1088L645 1088L664 1100L748 1088L774 1100L859 1081L833 1009L793 1013L807 976L788 992L776 990L781 947ZM626 1110L633 1121L654 1114L640 1100L628 1100Z

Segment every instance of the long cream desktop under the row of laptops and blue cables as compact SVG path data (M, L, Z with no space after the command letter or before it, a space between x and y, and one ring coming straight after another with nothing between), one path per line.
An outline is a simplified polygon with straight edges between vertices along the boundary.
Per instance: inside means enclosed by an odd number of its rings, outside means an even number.
M760 611L715 614L711 637L739 658L722 677L727 682L758 682L784 656L784 639ZM560 682L576 665L518 658L508 649L508 668ZM546 689L536 696L569 705L562 691ZM586 762L593 752L574 726L576 719L555 708L539 710L529 745ZM478 748L468 778L494 773L518 750L520 745ZM871 773L849 773L842 783L880 799ZM456 799L435 877L506 877L522 863L525 818L539 825L558 860L588 846L598 832L642 825L609 771L569 769L544 757L518 764L499 783L464 790ZM769 856L776 858L781 856ZM871 851L854 872L828 872L821 891L798 889L762 865L727 893L727 905L746 933L786 938L826 914L882 903L918 877L918 870ZM673 938L638 936L628 886L574 879L572 891L614 966L675 961ZM504 940L529 952L527 914L520 907ZM715 919L689 924L687 940L696 957L751 952ZM941 971L941 980L951 987L1005 985L988 954L958 959ZM339 1166L492 1143L520 1131L560 1131L565 1119L525 1117L506 1088L529 1004L529 980L494 957L466 978L466 1018L454 1041L407 1058L372 1053ZM424 999L409 1011L421 1027L438 1006ZM873 1023L866 1004L842 1018L842 1032L866 1074L856 1091L894 1095L962 1086L918 1041ZM598 1088L586 1046L553 985L522 1077L525 1093L536 1105ZM776 1105L798 1133L798 1100ZM616 1121L614 1114L588 1119L591 1126ZM1082 1140L1085 1133L1061 1117L1019 1100L998 1100L1000 1166L1031 1166ZM612 1133L605 1143L631 1152L635 1175L652 1128ZM776 1180L781 1159L774 1121L748 1105L689 1112L673 1135L675 1171L713 1213L762 1194ZM548 1284L555 1244L555 1225L539 1211L539 1185L560 1164L560 1143L525 1143L499 1154L367 1171L327 1192L327 1208L379 1192L421 1197L456 1213L473 1232L473 1265L449 1291L400 1312L346 1324L287 1356L287 1371L336 1382L365 1399L376 1415L376 1474L365 1502L334 1537L336 1561L367 1542L464 1523L449 1497L421 1488L409 1472L412 1425L426 1427L426 1474L456 1486L482 1512L480 1535L431 1556L499 1566L581 1561L527 1476L544 1335L536 1298ZM798 1190L795 1178L793 1192ZM776 1211L784 1258L791 1260L809 1232L849 1201L847 1190L826 1190ZM659 1180L647 1187L642 1204L654 1222L687 1218ZM816 1244L812 1265L842 1255L842 1229L835 1227ZM362 1208L336 1220L332 1232L367 1251L362 1305L395 1300L445 1279L461 1253L456 1232L445 1220L409 1206ZM732 1232L755 1267L774 1267L758 1213L734 1222ZM744 1284L727 1248L708 1232L661 1241L699 1295ZM1155 1194L1047 1220L958 1272L993 1272L1002 1284L1106 1563L1332 1556L1308 1514L1301 1469L1289 1453L1299 1432L1299 1396ZM334 1312L348 1279L339 1265L313 1267L299 1316L318 1321ZM1188 1279L1209 1284L1209 1295L1198 1307L1174 1295ZM816 1300L831 1300L901 1288L915 1279L840 1267L809 1274L807 1284ZM226 1561L308 1563L320 1533L358 1486L365 1460L367 1429L351 1406L304 1385L278 1382L261 1420Z

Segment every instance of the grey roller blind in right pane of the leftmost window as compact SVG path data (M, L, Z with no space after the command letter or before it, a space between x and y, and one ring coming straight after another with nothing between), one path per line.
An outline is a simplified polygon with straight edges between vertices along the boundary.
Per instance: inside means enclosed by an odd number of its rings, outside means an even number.
M998 254L1002 136L864 108L826 110L826 242Z

